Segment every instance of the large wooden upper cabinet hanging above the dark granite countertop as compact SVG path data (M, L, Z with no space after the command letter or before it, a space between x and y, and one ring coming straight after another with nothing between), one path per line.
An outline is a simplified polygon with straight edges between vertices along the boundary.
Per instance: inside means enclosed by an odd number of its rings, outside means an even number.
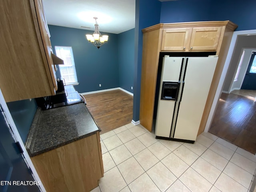
M42 0L0 1L0 88L6 102L55 94Z

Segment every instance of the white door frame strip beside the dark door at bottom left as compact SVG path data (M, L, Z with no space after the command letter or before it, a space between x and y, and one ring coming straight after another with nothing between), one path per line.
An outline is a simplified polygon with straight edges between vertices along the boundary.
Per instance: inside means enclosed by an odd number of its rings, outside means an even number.
M28 155L28 152L27 152L27 150L26 150L26 147L25 147L25 145L24 145L24 143L23 143L23 141L22 141L22 139L21 139L21 137L20 137L20 134L19 134L19 132L18 132L18 129L17 129L17 127L16 127L16 125L15 125L13 119L12 119L12 115L10 114L10 111L9 111L9 109L8 109L8 106L7 106L7 104L6 104L5 100L4 100L4 96L3 96L3 94L2 94L1 89L0 89L0 104L1 104L1 106L2 106L2 108L3 108L3 110L4 110L4 113L5 113L5 115L6 115L6 118L7 118L7 120L8 120L8 123L10 124L10 128L11 128L12 131L13 131L13 134L12 134L11 132L10 132L10 134L11 134L12 137L14 138L15 142L19 142L19 143L20 143L20 146L21 146L22 150L24 151L24 152L23 152L23 155L24 155L24 161L25 161L25 163L31 168L32 173L33 173L33 176L34 176L34 180L40 181L40 186L39 186L40 190L41 190L42 192L46 192L46 190L45 190L45 188L44 188L44 185L42 184L42 181L40 180L40 178L39 178L39 176L38 176L38 173L36 172L36 169L35 169L35 167L34 167L32 161L31 161L31 159L30 159L30 156Z

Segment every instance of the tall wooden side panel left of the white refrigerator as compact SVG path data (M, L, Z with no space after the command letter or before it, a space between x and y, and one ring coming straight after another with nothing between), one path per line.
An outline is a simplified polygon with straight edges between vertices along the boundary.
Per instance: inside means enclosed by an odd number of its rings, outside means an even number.
M140 90L140 124L152 130L156 78L162 30L153 30L143 35L142 74Z

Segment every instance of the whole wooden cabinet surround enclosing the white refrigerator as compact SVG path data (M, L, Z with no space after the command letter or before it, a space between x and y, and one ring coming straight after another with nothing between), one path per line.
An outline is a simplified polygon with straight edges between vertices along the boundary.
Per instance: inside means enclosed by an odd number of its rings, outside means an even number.
M233 31L230 21L157 24L142 30L142 74L140 124L152 130L156 80L160 52L216 52L218 62L204 108L198 134L204 131L212 101L224 67Z

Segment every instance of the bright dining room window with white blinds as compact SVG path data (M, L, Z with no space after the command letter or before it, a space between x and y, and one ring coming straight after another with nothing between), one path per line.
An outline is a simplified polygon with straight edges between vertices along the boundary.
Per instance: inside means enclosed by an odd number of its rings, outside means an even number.
M59 65L61 77L66 84L78 84L72 47L55 46L55 51L64 60L64 65Z

